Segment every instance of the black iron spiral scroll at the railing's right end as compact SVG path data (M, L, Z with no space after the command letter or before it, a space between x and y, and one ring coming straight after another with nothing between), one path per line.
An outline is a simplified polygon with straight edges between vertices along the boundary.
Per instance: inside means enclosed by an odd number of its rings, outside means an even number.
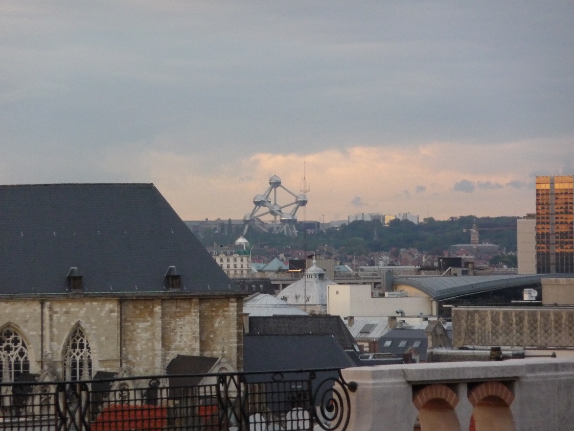
M310 373L310 379L316 378L315 372ZM346 382L339 370L339 378L323 379L313 392L313 409L315 421L326 431L347 429L351 418L351 400L349 392L355 392L358 384ZM340 428L339 428L340 427Z

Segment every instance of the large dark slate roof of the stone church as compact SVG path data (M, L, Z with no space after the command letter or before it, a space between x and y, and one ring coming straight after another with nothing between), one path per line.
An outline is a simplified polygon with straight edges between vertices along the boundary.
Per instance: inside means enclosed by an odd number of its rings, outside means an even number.
M238 287L153 184L0 186L0 294L63 294L77 267L84 293Z

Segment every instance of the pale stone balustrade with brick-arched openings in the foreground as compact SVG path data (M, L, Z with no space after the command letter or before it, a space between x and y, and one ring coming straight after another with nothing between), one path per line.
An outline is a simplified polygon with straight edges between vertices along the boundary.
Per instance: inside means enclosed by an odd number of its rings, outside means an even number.
M558 431L574 423L574 360L385 365L342 375L357 383L348 430Z

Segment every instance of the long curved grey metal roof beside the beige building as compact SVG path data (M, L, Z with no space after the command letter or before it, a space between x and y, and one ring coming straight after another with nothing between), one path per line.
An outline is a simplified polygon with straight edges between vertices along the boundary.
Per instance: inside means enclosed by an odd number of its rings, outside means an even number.
M550 274L549 274L550 275ZM561 274L552 274L561 276ZM394 284L406 284L429 295L432 299L460 297L506 287L525 286L540 283L542 274L529 275L466 275L466 276L420 276L396 277Z

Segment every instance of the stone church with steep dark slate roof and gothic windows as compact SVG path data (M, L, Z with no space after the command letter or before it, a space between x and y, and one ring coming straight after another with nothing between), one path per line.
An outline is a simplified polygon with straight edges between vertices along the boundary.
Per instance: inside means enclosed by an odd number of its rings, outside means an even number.
M2 382L242 370L243 297L153 184L0 186Z

